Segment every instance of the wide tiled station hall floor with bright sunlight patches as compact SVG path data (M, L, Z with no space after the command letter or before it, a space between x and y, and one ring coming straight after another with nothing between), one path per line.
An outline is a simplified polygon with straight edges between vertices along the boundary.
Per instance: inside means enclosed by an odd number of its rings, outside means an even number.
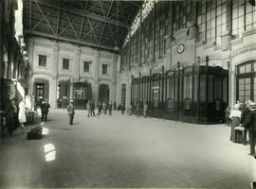
M77 111L70 127L66 111L51 111L42 140L20 129L4 138L0 188L249 188L256 180L249 146L229 142L224 125L85 115Z

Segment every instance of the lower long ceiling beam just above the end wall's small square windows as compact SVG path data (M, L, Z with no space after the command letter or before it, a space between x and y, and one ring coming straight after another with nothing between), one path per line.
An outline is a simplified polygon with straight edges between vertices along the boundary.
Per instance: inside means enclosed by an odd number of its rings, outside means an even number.
M25 31L26 34L30 33L30 31L27 30L27 29L25 29L24 31ZM43 37L43 38L49 38L49 39L52 39L52 40L56 39L55 35L47 34L45 32L32 31L32 35L33 36L38 36L38 37ZM77 40L73 40L73 39L70 39L70 38L65 38L65 37L62 37L62 36L59 36L58 40L66 42L66 43L79 44ZM99 44L95 44L95 43L83 42L83 41L80 44L85 45L85 46L90 46L90 47L93 47L93 48L101 48L103 50L116 52L114 47L110 47L110 46L104 46L104 45L99 45Z

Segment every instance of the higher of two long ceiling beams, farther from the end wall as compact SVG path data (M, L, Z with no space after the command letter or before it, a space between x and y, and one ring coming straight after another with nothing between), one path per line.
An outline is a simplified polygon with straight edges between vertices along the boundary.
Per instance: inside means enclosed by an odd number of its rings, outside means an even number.
M44 5L46 7L49 7L49 8L59 9L59 6L54 5L53 3L51 3L51 4L46 3L42 0L33 0L33 2L39 3L39 4ZM109 24L115 25L115 26L118 24L118 26L124 27L126 29L130 28L129 24L127 24L127 23L120 22L120 21L117 22L116 20L111 19L109 17L102 16L102 15L99 15L99 14L96 14L96 13L93 13L93 12L90 12L90 11L87 11L87 10L84 10L84 9L77 9L77 8L73 8L73 7L68 7L68 8L62 7L61 9L66 11L66 12L70 12L72 14L76 14L76 15L80 15L80 16L87 16L88 18L91 18L91 19L96 20L96 21L109 23Z

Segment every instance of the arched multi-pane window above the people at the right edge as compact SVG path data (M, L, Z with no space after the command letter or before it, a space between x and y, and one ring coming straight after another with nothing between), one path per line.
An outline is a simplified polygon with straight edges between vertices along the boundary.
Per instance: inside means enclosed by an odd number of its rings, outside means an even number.
M237 66L236 100L256 101L256 60Z

